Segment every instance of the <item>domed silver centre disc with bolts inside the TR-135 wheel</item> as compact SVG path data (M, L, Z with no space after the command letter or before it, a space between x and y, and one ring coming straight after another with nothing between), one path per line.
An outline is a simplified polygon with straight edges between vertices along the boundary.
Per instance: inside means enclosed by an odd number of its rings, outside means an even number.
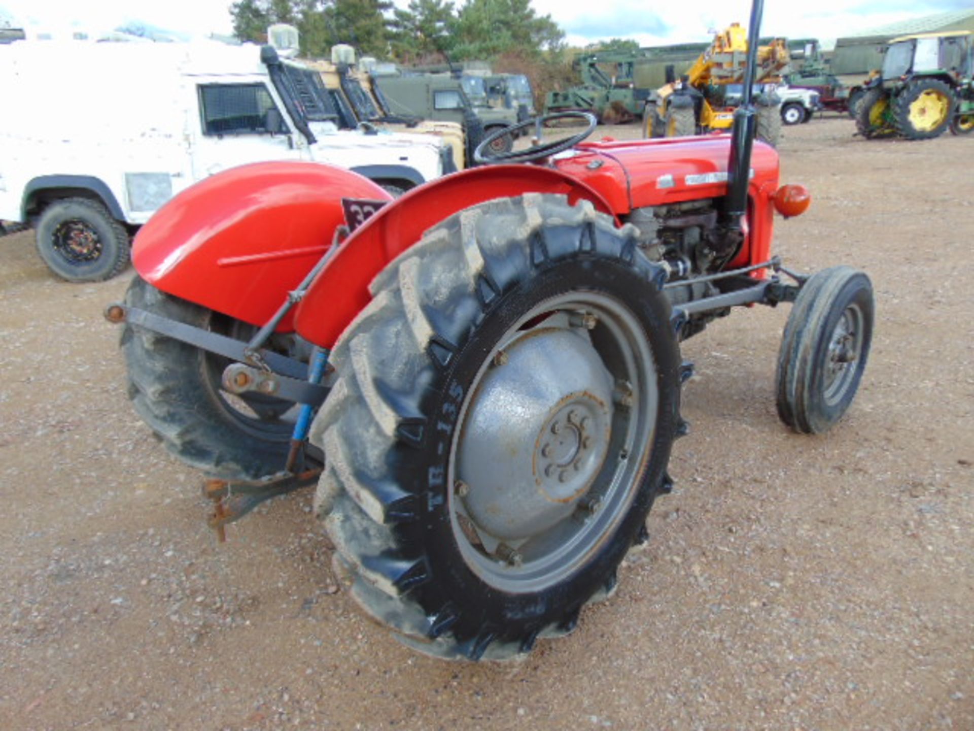
M609 448L613 387L583 328L532 330L504 355L468 411L457 476L470 519L518 541L569 517L591 487Z

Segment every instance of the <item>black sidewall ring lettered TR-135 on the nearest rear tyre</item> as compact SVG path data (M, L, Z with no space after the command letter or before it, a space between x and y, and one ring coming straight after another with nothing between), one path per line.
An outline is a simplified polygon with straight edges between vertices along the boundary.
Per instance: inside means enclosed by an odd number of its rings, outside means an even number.
M540 592L506 594L483 582L457 545L447 485L453 441L461 426L468 387L497 341L539 302L580 288L606 292L625 302L650 334L659 394L650 462L627 513L581 570ZM572 260L551 264L503 294L474 327L450 367L437 371L421 409L425 414L434 414L429 419L425 443L419 447L421 454L416 454L417 447L397 444L392 459L397 463L393 467L397 481L415 484L423 495L423 518L399 526L404 546L415 550L417 556L427 557L433 577L419 589L416 598L428 612L448 604L460 609L463 624L453 629L454 635L464 638L487 629L501 638L517 639L569 621L607 577L614 575L652 507L679 418L680 358L669 329L668 309L664 298L630 267L604 257L579 254Z

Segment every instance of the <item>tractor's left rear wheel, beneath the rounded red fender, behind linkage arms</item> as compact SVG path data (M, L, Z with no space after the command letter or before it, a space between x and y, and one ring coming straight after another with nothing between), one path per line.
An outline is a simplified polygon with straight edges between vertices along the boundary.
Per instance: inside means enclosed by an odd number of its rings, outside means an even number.
M253 327L160 291L136 277L126 304L246 340ZM183 462L226 480L253 480L284 466L296 408L221 386L231 361L143 327L126 325L122 350L135 411Z

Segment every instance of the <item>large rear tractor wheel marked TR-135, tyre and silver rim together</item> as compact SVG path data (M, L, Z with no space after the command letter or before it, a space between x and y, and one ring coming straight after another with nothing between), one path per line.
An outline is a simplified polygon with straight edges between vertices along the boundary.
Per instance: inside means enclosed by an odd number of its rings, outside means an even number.
M662 281L633 229L537 194L451 216L374 280L312 426L316 510L400 641L514 657L615 587L679 423Z

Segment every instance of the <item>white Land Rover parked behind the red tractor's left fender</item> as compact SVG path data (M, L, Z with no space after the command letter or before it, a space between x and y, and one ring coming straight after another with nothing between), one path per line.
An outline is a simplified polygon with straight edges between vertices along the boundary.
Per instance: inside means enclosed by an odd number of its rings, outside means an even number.
M354 170L393 192L455 170L431 135L340 131L318 74L270 47L18 42L0 47L0 220L33 223L69 281L107 279L179 191L253 162Z

